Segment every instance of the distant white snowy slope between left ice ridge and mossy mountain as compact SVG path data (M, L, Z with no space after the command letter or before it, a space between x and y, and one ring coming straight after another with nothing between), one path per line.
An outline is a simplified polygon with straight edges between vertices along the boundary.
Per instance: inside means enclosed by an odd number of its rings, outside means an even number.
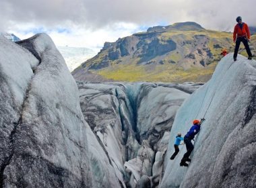
M90 48L77 48L69 46L57 46L59 52L65 59L69 71L73 71L79 66L84 60L95 56L96 52Z

